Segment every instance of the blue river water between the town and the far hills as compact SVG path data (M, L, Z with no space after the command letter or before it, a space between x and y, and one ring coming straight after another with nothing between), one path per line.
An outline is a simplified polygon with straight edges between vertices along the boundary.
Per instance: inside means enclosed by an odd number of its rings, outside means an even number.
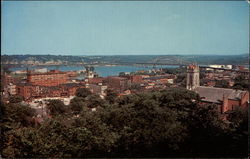
M156 65L156 66L95 66L95 72L98 73L101 77L107 77L107 76L116 76L119 75L120 72L135 72L139 70L150 70L153 68L177 68L179 66L172 66L172 65ZM65 66L65 65L59 65L59 66L30 66L28 69L36 69L36 68L47 68L48 70L60 70L60 71L79 71L79 70L85 70L82 66ZM25 70L26 67L14 67L10 68L11 71L17 71L17 70Z

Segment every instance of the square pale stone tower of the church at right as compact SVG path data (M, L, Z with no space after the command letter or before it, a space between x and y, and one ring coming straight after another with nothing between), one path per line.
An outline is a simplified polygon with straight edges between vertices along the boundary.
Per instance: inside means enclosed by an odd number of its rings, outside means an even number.
M200 86L199 66L189 65L187 66L187 89L194 90L198 86Z

